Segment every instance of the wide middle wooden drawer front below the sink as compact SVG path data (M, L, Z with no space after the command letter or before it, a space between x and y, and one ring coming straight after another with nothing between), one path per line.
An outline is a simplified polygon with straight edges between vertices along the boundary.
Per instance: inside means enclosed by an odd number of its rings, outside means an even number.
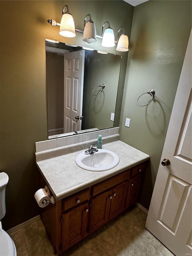
M108 179L107 181L101 182L98 185L92 187L92 196L95 196L113 186L129 179L131 170L127 170L124 173L119 174L118 176Z

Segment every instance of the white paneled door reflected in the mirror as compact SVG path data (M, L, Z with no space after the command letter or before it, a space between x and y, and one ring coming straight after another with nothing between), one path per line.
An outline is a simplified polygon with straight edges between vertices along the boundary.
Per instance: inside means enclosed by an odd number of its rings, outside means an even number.
M85 50L64 54L64 133L80 131Z

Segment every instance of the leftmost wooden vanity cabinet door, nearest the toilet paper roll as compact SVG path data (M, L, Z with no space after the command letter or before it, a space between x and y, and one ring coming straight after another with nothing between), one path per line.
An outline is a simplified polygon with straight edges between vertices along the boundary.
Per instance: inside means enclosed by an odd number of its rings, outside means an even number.
M63 213L62 218L62 245L63 249L66 250L79 242L87 233L88 203Z

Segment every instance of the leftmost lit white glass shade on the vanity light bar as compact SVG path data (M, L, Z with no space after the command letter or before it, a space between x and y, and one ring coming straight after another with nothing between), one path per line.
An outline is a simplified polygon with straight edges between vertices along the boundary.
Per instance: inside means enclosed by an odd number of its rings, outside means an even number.
M75 24L73 21L73 16L71 14L63 14L61 18L61 25L59 35L64 37L75 37Z

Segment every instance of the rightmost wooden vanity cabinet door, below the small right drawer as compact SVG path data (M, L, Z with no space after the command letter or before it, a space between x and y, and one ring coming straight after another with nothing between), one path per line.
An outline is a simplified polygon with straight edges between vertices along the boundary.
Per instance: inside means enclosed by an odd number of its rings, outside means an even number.
M143 179L144 174L137 175L130 179L125 208L128 208L129 206L137 202L143 185Z

